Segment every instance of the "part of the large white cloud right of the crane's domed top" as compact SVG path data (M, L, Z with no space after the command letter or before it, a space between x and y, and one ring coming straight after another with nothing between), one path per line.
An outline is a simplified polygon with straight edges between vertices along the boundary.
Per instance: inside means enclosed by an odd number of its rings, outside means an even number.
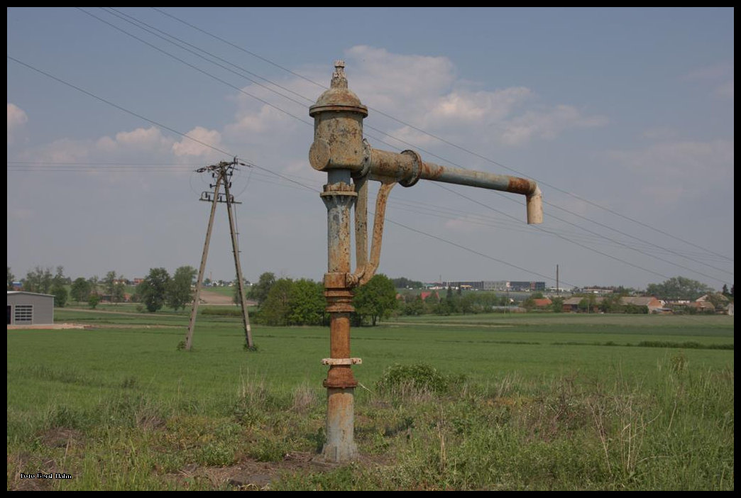
M586 116L570 105L537 104L534 91L527 87L473 91L471 84L456 77L445 57L405 56L367 46L353 47L347 55L350 90L362 102L451 139L467 136L488 142L494 132L502 144L522 145L607 122L604 116ZM487 133L482 133L482 126ZM430 142L410 126L396 126L389 133L413 143L422 141L421 145Z

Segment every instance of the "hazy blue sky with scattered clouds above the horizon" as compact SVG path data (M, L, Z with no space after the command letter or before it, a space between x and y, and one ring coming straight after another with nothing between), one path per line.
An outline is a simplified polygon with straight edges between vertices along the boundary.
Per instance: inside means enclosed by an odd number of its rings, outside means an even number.
M198 268L195 170L236 156L245 278L322 279L308 107L342 59L374 148L543 193L527 225L516 194L396 186L379 273L730 288L733 46L732 8L7 7L7 265ZM219 205L205 276L234 275Z

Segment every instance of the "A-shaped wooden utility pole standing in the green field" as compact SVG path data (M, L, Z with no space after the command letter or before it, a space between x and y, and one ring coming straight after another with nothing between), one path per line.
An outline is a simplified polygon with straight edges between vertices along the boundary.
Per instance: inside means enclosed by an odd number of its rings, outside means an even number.
M239 291L239 304L242 305L242 324L245 327L245 344L252 350L255 345L252 342L252 331L250 329L250 317L247 315L247 302L245 300L245 279L242 277L242 265L239 263L239 247L237 245L236 222L232 213L233 205L242 204L236 202L234 196L229 192L231 187L231 177L236 170L237 165L247 166L243 162L237 162L236 157L231 162L219 162L218 165L200 167L196 173L211 172L211 177L216 183L209 185L213 187L213 193L204 191L201 193L200 201L211 202L211 212L208 217L208 228L206 229L206 242L203 245L203 254L201 256L201 267L198 270L198 281L196 282L196 293L193 296L193 308L190 308L190 321L187 325L187 334L185 336L185 351L190 351L193 345L193 331L196 329L196 314L198 313L199 299L201 296L201 287L203 285L203 274L206 270L206 259L208 257L208 245L211 240L211 229L213 228L213 217L216 213L216 204L224 202L227 205L229 216L229 231L231 234L232 251L234 253L234 268L236 270L237 286ZM224 186L224 193L221 193L221 187Z

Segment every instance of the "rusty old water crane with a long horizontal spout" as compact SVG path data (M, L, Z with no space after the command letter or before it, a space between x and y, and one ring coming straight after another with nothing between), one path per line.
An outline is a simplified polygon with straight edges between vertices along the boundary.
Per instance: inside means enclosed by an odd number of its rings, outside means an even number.
M353 392L358 384L350 369L361 359L350 357L350 313L353 288L373 277L381 255L386 201L397 183L411 187L419 179L470 185L521 193L527 199L528 224L542 222L542 196L536 182L514 176L480 173L422 162L419 153L387 152L363 139L363 119L368 107L348 90L345 62L335 62L330 89L309 107L314 119L314 141L309 161L315 170L327 172L320 194L327 206L328 268L324 276L327 312L330 315L330 358L327 378L327 441L322 458L348 462L357 456L353 441ZM368 180L381 183L376 197L371 255L368 257ZM356 265L350 268L350 208L355 208Z

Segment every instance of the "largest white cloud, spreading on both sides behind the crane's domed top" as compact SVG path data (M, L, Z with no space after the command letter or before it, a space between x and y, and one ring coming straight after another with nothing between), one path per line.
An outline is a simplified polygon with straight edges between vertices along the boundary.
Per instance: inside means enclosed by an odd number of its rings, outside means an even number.
M359 45L346 50L345 58L349 89L369 108L365 136L374 147L388 149L391 144L399 149L419 149L439 145L427 133L464 147L489 145L492 141L524 145L536 139L554 139L568 129L607 122L602 116L587 115L570 105L538 102L534 91L527 87L473 88L456 76L455 66L446 57L402 55ZM310 80L328 85L332 70L327 64L303 73ZM280 150L280 157L263 152L253 159L283 169L282 164L290 162L295 167L297 158L305 158L312 134L308 107L324 90L293 77L276 83L282 88L273 88L294 102L259 84L243 87L234 98L235 118L223 128L222 139L235 153L247 156L253 156L253 150L274 147ZM288 171L293 171L292 167Z

